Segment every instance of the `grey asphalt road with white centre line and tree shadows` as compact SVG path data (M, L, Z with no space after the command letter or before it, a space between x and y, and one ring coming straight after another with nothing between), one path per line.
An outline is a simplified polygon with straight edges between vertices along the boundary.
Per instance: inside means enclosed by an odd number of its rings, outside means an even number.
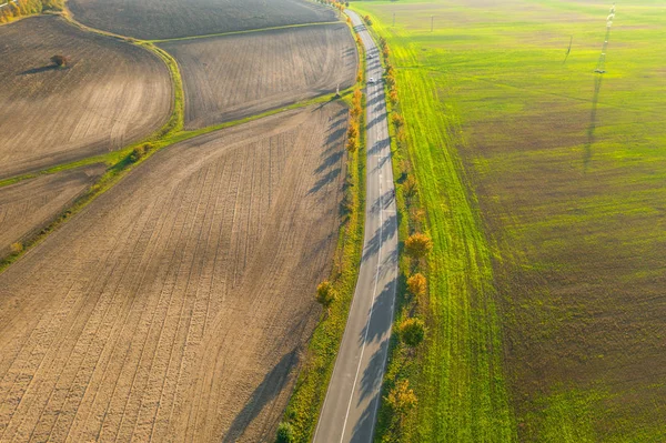
M369 56L366 79L381 81L379 49L359 16L346 13ZM367 84L363 258L315 443L372 442L381 400L397 282L397 217L384 95L383 84Z

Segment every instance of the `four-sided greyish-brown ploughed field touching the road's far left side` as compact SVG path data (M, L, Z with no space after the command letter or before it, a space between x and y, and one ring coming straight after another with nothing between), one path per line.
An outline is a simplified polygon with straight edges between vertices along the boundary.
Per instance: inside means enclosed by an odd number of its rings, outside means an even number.
M354 40L343 23L181 40L160 47L181 68L189 129L335 92L337 85L349 88L357 66Z

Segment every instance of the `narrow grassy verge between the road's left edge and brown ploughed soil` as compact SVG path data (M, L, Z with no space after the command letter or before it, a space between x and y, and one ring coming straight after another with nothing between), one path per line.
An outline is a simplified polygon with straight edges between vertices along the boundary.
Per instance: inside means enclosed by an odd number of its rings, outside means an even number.
M361 59L359 74L359 85L361 85L365 72L365 53L359 41L356 44ZM351 93L343 95L343 101L352 108ZM365 109L365 95L362 98L362 109ZM294 442L307 443L312 440L359 278L365 221L364 112L361 113L360 120L359 149L354 152L347 151L345 201L343 202L345 219L340 229L335 261L330 276L339 298L331 306L330 312L322 313L321 321L310 340L294 391L284 413L283 423L286 423L293 432Z

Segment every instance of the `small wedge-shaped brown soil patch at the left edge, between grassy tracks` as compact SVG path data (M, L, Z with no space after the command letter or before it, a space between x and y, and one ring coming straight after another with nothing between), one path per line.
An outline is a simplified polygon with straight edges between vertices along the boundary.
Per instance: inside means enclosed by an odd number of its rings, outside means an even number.
M92 165L0 188L0 258L10 252L12 243L44 228L104 169Z

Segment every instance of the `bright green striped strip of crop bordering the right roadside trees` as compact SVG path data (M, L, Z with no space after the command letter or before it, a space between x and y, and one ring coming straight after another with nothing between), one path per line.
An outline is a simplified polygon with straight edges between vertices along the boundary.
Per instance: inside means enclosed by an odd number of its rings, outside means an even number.
M404 155L413 164L425 229L433 240L427 335L422 360L410 376L418 403L406 414L401 441L516 441L494 302L492 251L454 148L461 142L457 117L438 101L432 77L418 69L408 36L390 29L365 8L354 4L353 9L371 16L374 31L393 51L405 119ZM400 365L395 358L394 352L387 377ZM390 411L383 403L381 415L386 414ZM377 429L376 441L396 439L386 426Z

